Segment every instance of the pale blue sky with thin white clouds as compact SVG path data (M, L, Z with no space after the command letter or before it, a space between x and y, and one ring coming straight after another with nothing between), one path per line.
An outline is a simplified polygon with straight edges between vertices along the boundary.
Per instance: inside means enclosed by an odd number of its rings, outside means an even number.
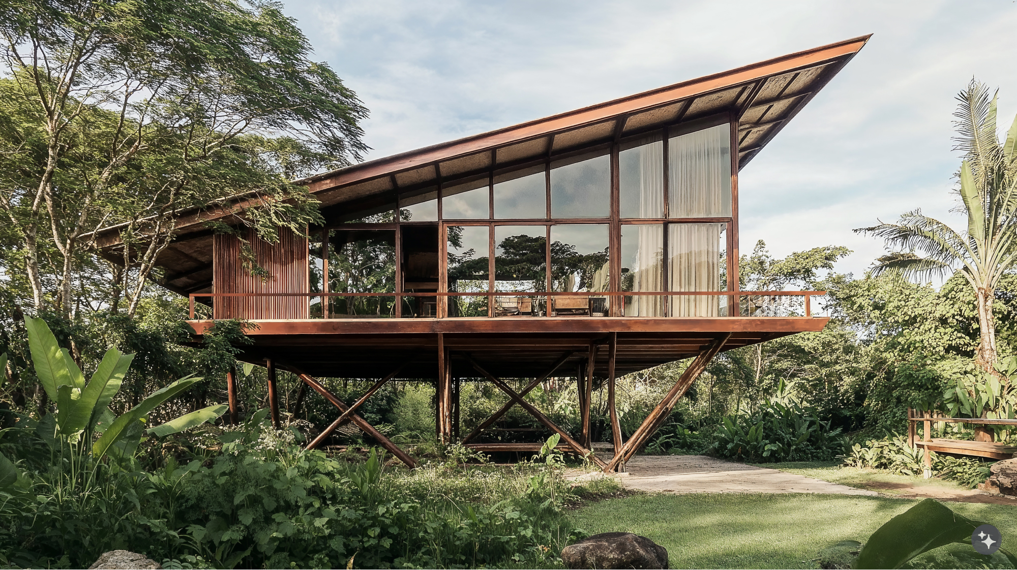
M954 228L954 100L972 77L1017 113L1017 3L288 0L370 110L379 159L840 40L872 40L744 169L740 248L885 249L853 229L914 208Z

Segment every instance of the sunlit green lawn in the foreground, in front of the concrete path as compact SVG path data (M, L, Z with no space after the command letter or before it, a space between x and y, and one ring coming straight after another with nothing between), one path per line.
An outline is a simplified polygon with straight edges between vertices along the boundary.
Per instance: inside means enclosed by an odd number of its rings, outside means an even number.
M571 516L591 534L629 531L652 539L667 549L671 568L818 568L814 560L820 551L843 540L864 543L915 503L846 495L641 494L591 503ZM1017 550L1017 508L947 505L995 524L1004 546ZM955 545L933 551L912 567L984 568L986 562L988 567L1006 567L1001 561L1005 559L981 559L970 546Z

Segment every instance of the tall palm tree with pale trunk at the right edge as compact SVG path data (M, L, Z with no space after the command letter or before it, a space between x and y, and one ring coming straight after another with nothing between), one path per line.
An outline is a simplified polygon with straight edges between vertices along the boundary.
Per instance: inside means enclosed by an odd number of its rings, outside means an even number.
M975 81L957 96L955 150L964 153L960 188L967 229L957 232L923 215L920 209L897 224L855 230L886 240L892 253L881 257L873 274L899 271L912 278L945 277L960 271L974 290L979 342L975 363L996 374L996 322L993 300L1000 278L1017 262L1017 117L1002 144L996 134L996 94Z

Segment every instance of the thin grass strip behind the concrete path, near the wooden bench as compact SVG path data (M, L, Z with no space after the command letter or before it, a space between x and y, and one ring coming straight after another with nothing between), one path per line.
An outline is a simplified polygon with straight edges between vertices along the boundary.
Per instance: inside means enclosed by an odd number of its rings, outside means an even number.
M967 488L952 481L943 479L922 479L921 476L894 474L885 469L859 469L845 467L833 461L788 461L786 463L753 463L760 467L780 469L789 473L811 477L830 483L837 483L886 493L888 495L906 494L900 491L904 487L931 487L943 491L963 491Z

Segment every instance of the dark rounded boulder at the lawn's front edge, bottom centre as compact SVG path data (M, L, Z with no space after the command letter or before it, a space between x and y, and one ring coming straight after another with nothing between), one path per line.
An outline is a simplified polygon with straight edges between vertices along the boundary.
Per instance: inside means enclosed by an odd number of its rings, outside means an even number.
M632 532L604 532L561 551L565 568L667 568L667 549Z

